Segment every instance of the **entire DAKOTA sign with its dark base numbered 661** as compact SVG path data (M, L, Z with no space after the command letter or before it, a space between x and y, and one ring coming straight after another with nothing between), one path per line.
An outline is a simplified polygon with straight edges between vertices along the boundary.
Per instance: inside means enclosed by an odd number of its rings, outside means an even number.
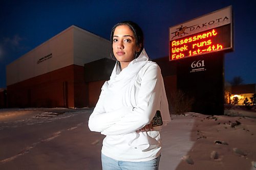
M169 28L169 61L177 62L177 89L193 110L224 113L224 53L232 51L231 6Z

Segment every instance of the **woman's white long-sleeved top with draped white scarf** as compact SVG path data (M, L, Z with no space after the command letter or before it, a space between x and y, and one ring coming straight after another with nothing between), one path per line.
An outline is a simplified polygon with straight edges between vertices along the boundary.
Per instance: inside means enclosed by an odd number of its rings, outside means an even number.
M167 98L159 66L148 61L143 50L121 71L116 63L89 118L91 131L106 135L102 154L120 161L148 161L161 152L160 130L136 132L150 124L157 110L163 125L170 122Z

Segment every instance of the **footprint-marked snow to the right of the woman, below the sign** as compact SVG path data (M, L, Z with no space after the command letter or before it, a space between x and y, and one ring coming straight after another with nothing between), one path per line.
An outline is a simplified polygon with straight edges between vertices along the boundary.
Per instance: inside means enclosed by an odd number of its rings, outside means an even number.
M199 113L172 118L163 130L161 169L253 169L256 119Z

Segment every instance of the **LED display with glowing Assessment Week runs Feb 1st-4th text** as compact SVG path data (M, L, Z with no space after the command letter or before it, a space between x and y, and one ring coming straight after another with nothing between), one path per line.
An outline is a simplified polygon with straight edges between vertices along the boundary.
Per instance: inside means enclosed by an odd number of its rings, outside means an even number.
M178 60L231 48L230 24L169 42L169 60Z

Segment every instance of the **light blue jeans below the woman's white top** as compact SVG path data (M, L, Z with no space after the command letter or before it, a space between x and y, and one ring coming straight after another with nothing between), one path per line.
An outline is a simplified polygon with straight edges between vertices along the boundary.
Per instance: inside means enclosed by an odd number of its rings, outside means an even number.
M103 170L158 170L160 156L150 161L128 162L118 161L101 154Z

